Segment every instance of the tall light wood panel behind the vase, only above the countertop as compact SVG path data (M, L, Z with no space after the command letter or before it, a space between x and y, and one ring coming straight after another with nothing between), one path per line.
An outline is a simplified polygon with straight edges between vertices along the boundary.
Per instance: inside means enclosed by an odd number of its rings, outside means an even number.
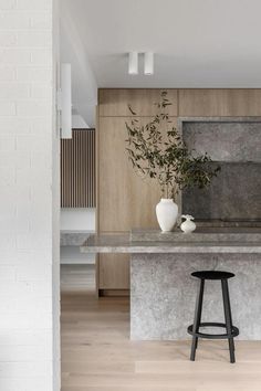
M134 171L126 151L125 119L100 118L98 131L98 229L156 228L155 207L160 189L155 180L142 179Z

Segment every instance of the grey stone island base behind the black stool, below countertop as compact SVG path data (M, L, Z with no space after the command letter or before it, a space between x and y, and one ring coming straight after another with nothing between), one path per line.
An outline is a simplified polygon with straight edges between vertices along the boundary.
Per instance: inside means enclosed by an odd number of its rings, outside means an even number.
M223 270L236 274L229 288L238 338L261 339L260 260L260 254L132 254L130 338L188 339L199 283L190 274ZM223 321L220 282L206 282L201 320Z

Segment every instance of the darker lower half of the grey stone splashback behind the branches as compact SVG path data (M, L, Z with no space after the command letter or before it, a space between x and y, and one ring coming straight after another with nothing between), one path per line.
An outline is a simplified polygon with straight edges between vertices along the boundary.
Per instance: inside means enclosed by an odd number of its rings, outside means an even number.
M261 221L261 163L219 165L209 188L184 191L182 212L198 220Z

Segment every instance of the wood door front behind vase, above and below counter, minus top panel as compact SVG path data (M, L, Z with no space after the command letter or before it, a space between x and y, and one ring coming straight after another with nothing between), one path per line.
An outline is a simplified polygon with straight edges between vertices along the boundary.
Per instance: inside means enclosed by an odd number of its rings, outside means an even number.
M124 232L132 228L156 228L155 207L160 198L157 183L142 179L126 151L125 121L100 117L98 127L98 230ZM147 120L149 118L146 118ZM144 120L146 120L144 119ZM129 256L101 254L100 289L129 288Z

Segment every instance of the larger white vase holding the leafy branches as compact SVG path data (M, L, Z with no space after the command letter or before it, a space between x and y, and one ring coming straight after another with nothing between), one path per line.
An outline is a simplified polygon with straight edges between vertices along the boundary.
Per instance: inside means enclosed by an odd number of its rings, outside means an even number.
M173 199L161 198L156 205L156 215L161 231L170 232L177 222L178 205Z

